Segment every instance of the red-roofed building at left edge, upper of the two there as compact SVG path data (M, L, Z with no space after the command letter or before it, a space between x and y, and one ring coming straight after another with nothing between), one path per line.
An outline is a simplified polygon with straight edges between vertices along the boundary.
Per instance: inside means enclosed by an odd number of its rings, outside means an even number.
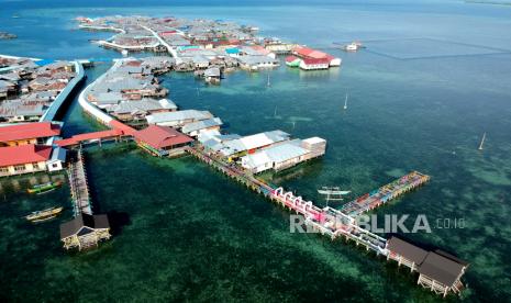
M26 144L44 144L51 137L60 135L60 124L35 122L0 127L0 147Z

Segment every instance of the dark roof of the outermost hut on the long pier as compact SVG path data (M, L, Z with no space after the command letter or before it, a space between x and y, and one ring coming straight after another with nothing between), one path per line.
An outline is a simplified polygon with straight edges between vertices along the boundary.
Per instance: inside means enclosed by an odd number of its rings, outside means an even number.
M453 285L463 273L466 262L458 262L436 251L427 254L424 262L420 266L419 272L434 279L445 285Z

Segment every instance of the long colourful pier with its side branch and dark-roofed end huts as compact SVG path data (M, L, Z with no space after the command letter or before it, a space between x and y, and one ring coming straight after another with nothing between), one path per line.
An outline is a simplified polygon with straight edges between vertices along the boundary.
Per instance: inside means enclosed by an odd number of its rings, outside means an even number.
M346 203L341 210L330 206L321 209L314 205L312 201L307 201L299 195L297 197L293 192L286 192L281 187L274 188L254 178L251 172L244 171L242 168L225 162L221 158L204 152L200 145L187 147L186 152L246 186L248 189L263 194L265 198L291 212L302 215L304 223L312 227L313 232L329 236L332 240L336 238L344 238L346 243L352 240L356 246L362 246L367 251L376 252L376 256L386 257L387 261L397 260L399 266L403 263L410 267L411 272L418 271L420 273L418 284L425 289L432 290L443 296L446 296L449 292L459 293L463 289L460 277L468 267L467 262L440 249L427 251L416 248L404 240L396 239L396 237L384 238L357 225L356 216L424 184L430 180L430 177L426 175L412 171L355 201ZM396 245L397 242L399 242L399 245ZM408 248L412 246L413 249ZM422 259L409 256L412 254L410 251L422 251ZM431 270L431 263L437 267L433 267L434 270ZM445 279L444 272L440 270L443 267L449 268L454 272L453 277L455 279Z

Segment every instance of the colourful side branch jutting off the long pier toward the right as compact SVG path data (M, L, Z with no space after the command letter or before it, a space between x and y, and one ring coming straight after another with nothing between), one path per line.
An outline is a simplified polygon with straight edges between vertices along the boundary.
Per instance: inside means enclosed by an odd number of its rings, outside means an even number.
M353 200L341 207L341 212L356 217L393 200L430 180L430 176L412 171L379 189Z

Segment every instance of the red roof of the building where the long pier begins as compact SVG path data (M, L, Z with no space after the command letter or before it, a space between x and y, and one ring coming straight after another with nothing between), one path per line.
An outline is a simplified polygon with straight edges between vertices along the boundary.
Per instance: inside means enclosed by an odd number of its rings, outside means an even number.
M179 133L178 131L160 125L149 125L142 131L137 131L133 134L136 141L144 142L151 145L153 148L162 149L165 147L171 147L184 143L190 143L193 139L187 135Z

